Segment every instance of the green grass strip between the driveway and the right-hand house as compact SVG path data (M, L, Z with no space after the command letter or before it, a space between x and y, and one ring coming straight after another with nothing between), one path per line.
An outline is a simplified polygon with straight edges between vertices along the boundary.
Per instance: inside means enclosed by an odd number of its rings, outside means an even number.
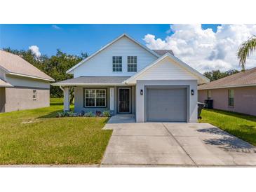
M203 109L202 123L210 123L256 145L256 116L248 116L216 109Z

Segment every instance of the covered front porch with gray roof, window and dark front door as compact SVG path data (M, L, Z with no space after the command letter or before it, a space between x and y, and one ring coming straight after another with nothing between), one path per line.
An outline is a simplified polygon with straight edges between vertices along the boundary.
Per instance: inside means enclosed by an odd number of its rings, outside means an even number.
M74 112L109 111L116 114L135 115L135 85L123 83L128 77L79 77L53 83L64 92L64 111L70 110L69 96L74 88ZM99 82L100 81L100 82Z

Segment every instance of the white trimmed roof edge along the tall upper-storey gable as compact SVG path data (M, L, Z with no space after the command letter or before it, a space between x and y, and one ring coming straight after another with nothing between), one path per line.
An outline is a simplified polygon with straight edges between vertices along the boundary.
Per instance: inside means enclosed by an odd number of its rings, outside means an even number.
M79 62L78 64L74 65L72 68L68 69L66 71L67 74L71 73L74 69L76 69L77 67L79 67L81 64L83 64L84 62L90 60L90 58L94 57L95 55L97 55L98 53L100 53L102 50L105 50L105 48L111 46L113 43L115 43L116 41L118 41L119 39L123 38L124 36L126 36L128 39L130 39L131 41L133 41L134 43L136 43L137 45L141 46L142 48L144 48L145 50L149 51L149 53L155 55L156 57L160 57L159 54L157 54L155 51L147 48L146 46L142 45L141 43L139 43L138 41L136 41L135 39L131 38L130 36L128 36L128 34L122 34L121 36L117 37L116 39L114 39L114 41L108 43L106 46L100 48L100 50L97 50L95 53L93 53L93 55L90 55L89 57L86 57L86 59L82 60L81 62Z

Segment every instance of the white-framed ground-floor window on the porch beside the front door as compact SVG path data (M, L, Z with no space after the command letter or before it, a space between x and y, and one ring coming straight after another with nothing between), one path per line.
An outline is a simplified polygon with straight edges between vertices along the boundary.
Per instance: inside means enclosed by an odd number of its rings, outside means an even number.
M105 89L86 89L85 90L85 107L106 107Z

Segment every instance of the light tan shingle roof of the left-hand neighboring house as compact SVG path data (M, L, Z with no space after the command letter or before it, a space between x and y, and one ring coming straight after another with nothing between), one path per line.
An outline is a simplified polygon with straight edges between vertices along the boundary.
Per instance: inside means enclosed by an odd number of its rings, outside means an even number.
M6 71L6 74L54 81L53 78L22 59L22 57L8 53L4 50L0 50L0 68Z

